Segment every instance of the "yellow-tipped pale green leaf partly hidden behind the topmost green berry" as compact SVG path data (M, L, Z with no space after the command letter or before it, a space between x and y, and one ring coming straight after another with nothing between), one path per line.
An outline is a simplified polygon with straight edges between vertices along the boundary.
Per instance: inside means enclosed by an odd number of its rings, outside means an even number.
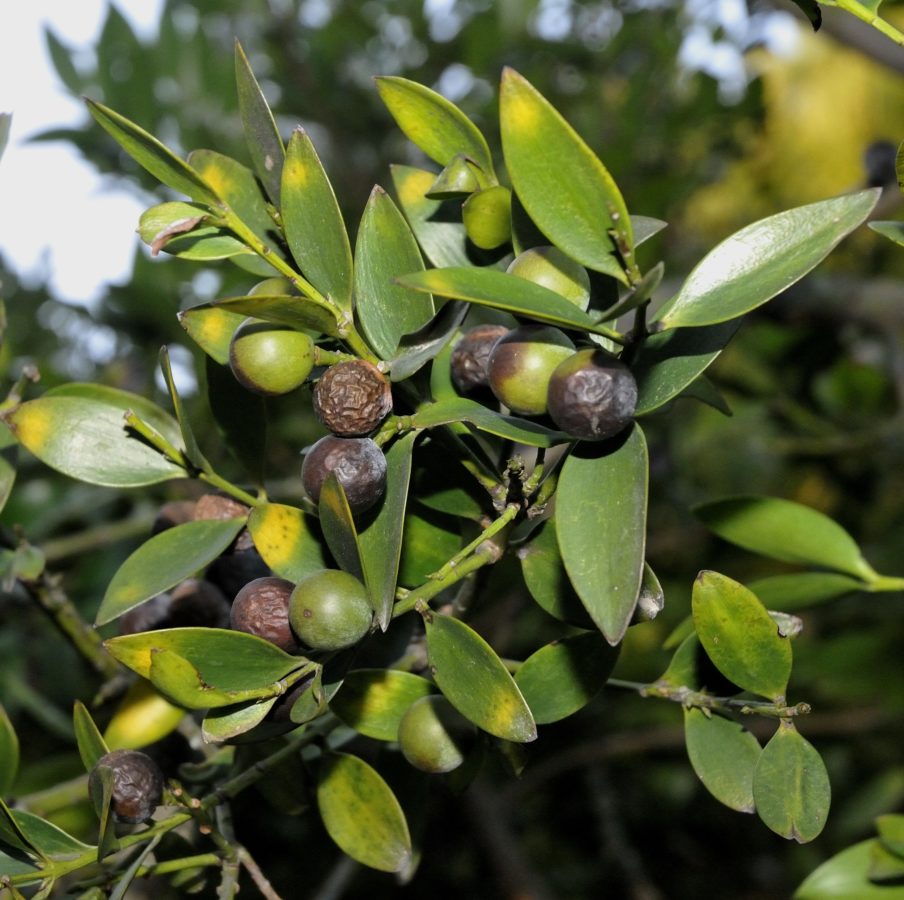
M443 268L470 265L468 237L461 216L451 219L443 214L442 201L426 196L436 174L398 165L391 166L391 172L399 205L427 259Z

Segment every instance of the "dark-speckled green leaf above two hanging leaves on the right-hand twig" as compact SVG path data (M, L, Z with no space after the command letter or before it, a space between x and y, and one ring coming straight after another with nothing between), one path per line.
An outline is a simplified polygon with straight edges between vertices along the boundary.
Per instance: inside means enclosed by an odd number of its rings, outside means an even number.
M778 701L791 675L791 642L778 633L766 607L742 584L718 572L694 582L694 626L706 655L745 691Z

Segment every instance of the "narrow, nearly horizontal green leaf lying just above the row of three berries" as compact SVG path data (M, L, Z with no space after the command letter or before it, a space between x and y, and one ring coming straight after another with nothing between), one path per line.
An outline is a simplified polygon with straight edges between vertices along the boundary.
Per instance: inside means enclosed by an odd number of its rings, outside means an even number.
M417 291L505 310L561 328L589 332L598 328L584 310L555 291L498 269L427 269L405 275L398 282Z

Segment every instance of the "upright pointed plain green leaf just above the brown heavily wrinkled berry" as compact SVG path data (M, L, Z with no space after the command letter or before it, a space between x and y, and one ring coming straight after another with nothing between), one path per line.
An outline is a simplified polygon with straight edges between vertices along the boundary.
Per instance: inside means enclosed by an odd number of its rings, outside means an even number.
M355 244L355 314L368 343L391 359L402 335L433 317L433 298L396 283L399 275L422 271L417 241L389 195L371 192Z

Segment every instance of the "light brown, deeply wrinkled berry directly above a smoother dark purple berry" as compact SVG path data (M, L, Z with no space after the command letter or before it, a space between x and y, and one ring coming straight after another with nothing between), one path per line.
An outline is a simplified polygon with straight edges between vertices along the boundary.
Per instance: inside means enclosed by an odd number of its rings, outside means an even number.
M392 409L389 380L363 359L330 366L314 388L317 418L341 437L370 434Z

